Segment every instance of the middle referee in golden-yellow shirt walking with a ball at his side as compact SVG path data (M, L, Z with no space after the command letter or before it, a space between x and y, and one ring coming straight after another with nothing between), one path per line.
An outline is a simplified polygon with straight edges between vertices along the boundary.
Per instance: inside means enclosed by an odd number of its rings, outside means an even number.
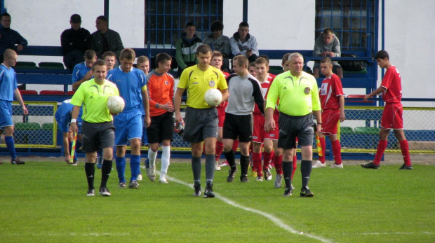
M187 109L183 139L192 147L192 171L194 174L194 196L201 195L201 153L203 144L206 150L206 181L204 197L215 197L213 177L215 174L215 146L217 140L217 109L208 106L204 100L207 90L218 88L222 92L222 101L227 100L228 85L224 74L210 66L211 48L201 45L196 50L197 65L185 69L175 92L175 127L183 122L180 113L182 93L187 90Z

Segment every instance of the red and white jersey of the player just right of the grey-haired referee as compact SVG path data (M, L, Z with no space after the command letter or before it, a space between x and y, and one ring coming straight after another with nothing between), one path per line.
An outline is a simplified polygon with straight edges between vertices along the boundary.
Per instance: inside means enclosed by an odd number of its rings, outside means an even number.
M340 109L340 96L344 96L340 78L336 74L333 74L329 78L323 79L319 90L322 110Z

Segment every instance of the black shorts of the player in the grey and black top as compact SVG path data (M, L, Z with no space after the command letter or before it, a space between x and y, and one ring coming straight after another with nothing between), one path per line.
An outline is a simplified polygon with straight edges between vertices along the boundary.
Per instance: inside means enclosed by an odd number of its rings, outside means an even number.
M222 130L223 139L248 142L253 141L253 115L236 116L230 113L225 114L224 128Z

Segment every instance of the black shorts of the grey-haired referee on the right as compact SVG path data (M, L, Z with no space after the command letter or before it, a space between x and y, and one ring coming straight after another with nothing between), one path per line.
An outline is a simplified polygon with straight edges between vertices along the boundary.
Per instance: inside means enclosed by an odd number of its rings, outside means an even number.
M288 116L279 114L279 139L278 148L296 148L296 137L299 146L312 146L314 138L313 115Z

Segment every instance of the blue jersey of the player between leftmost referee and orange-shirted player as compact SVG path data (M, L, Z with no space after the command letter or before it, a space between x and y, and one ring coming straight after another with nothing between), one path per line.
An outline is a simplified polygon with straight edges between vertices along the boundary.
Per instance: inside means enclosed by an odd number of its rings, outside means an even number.
M126 102L123 112L140 111L143 109L142 89L146 90L147 78L142 70L132 68L131 71L125 73L121 70L121 66L119 66L119 68L109 71L107 80L116 84L119 95Z

